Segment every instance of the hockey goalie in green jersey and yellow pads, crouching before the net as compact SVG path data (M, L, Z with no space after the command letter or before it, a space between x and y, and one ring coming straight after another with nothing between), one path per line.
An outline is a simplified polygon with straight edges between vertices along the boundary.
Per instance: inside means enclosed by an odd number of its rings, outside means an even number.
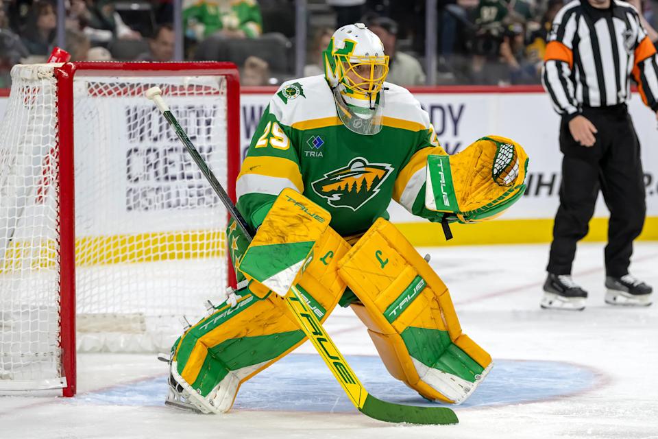
M249 283L173 345L169 405L227 412L241 383L306 340L280 300L287 285L320 322L337 305L353 309L390 374L426 399L459 404L487 377L491 356L463 333L448 288L386 210L395 200L448 237L449 223L513 204L528 158L496 136L448 156L417 100L385 82L388 62L365 25L346 25L324 51L324 75L271 98L236 181L256 236L248 244L235 222L227 230Z

